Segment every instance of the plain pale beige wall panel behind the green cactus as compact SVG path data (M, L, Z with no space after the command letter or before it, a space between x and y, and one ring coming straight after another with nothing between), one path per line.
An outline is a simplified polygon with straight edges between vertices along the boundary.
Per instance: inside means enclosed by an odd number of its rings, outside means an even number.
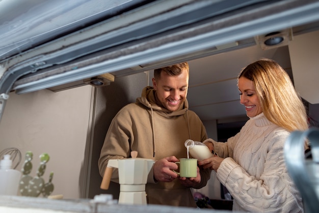
M0 150L16 147L21 151L18 170L25 152L33 151L32 176L39 167L40 154L48 153L50 160L43 178L48 181L49 173L54 172L52 195L81 197L92 87L9 95L0 123Z

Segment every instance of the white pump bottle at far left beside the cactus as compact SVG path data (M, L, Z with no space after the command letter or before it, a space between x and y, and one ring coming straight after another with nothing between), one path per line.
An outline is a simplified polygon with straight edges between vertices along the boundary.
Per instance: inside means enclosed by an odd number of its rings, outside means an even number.
M0 195L17 195L21 172L11 168L10 155L0 161Z

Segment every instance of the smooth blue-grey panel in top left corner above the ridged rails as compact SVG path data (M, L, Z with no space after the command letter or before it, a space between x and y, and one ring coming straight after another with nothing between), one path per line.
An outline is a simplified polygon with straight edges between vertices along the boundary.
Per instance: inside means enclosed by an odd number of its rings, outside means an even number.
M139 7L142 2L149 1L2 0L0 59Z

